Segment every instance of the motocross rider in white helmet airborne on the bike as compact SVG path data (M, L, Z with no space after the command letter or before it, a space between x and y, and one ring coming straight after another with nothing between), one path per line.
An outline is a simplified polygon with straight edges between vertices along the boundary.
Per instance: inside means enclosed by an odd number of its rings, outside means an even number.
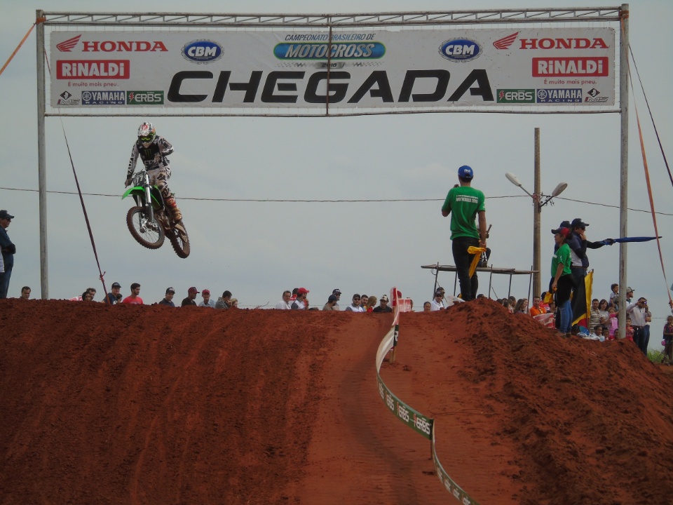
M182 213L177 207L170 189L168 189L168 179L170 178L168 164L170 161L168 161L166 156L172 152L172 145L165 138L156 135L156 130L154 130L152 123L142 123L140 128L138 128L138 140L133 144L133 148L131 149L131 159L128 162L125 186L128 187L131 184L131 175L133 170L135 170L138 156L140 156L149 175L150 184L156 184L158 190L161 191L165 206L170 209L173 215L173 219L181 222Z

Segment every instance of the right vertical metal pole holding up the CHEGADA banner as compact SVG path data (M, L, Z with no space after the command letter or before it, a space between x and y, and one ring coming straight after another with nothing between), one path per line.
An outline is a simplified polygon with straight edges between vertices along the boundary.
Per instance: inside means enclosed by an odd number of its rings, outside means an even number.
M621 116L619 236L627 236L627 197L629 175L629 4L622 4L619 44L619 108ZM618 336L626 336L627 245L619 244Z

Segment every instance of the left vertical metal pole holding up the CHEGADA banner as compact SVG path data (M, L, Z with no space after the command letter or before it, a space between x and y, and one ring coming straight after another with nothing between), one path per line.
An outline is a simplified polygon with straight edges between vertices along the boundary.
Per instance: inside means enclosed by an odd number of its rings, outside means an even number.
M37 10L36 19L44 17L44 11ZM47 267L47 172L44 142L45 79L44 79L44 23L36 28L37 48L37 180L39 188L40 216L40 285L42 299L49 298L49 275Z

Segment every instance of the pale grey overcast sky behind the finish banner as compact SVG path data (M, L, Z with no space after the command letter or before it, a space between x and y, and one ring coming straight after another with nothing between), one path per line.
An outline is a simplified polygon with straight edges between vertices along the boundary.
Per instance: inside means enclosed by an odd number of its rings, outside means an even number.
M518 1L506 8L586 6L587 2ZM268 13L281 4L261 1L200 1L193 12ZM596 5L609 5L601 2ZM409 11L402 1L287 1L287 13ZM442 11L444 1L426 0L414 8ZM462 6L455 5L457 8ZM473 1L471 8L501 8L501 1ZM8 58L34 22L35 10L132 11L137 2L0 0L0 57ZM184 2L163 1L162 11L184 12ZM673 16L669 1L630 4L630 41L664 149L671 158L673 107L669 48ZM668 49L667 49L668 48ZM39 216L36 142L36 50L31 34L0 76L0 208L15 215L8 234L17 245L10 293L22 285L40 297ZM637 85L639 86L639 85ZM639 87L637 100L644 128L655 208L668 282L673 282L672 187ZM632 100L633 103L633 100ZM65 133L81 188L90 194L118 194L130 148L143 117L64 118ZM542 190L558 182L568 189L542 214L543 288L553 250L552 227L581 217L590 223L590 240L619 234L620 116L618 114L407 114L351 118L154 118L159 135L175 147L170 187L184 214L191 255L180 260L168 241L146 250L128 233L130 203L120 197L85 196L107 286L118 281L128 295L139 282L145 302L157 302L172 286L176 298L187 288L210 288L214 296L231 290L242 307L273 306L285 289L305 287L312 305L322 307L340 288L345 307L354 292L381 297L397 285L417 309L432 295L434 278L423 264L453 264L449 219L440 207L456 170L475 170L474 186L487 196L492 224L489 247L495 267L529 269L532 265L532 204L505 179L515 173L533 190L533 131L541 128ZM653 235L644 170L630 114L628 214L630 235ZM79 198L75 191L61 121L46 120L48 190L48 281L51 298L99 290L98 271ZM192 198L211 198L196 200ZM393 200L388 202L289 203L241 200ZM426 200L426 201L421 201ZM594 296L608 297L618 281L618 246L589 252L595 271ZM656 243L630 245L628 283L637 296L650 299L658 342L667 308ZM453 274L440 274L453 291ZM509 278L494 276L491 297L508 294ZM480 276L480 292L489 278ZM512 294L525 297L529 278L512 280ZM200 295L199 295L200 297Z

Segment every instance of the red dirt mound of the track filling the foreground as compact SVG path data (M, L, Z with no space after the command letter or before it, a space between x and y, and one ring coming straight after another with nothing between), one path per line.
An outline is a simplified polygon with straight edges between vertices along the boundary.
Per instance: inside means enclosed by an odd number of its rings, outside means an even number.
M386 314L0 300L1 504L455 500L390 415ZM381 377L482 504L665 504L673 382L493 302L402 314Z

